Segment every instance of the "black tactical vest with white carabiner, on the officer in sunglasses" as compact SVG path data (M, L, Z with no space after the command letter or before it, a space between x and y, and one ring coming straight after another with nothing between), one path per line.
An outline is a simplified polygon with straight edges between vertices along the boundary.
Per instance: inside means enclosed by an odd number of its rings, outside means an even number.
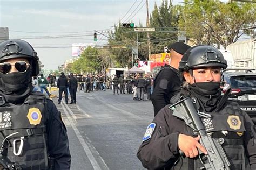
M23 104L0 107L2 157L22 169L48 169L46 98L31 94Z

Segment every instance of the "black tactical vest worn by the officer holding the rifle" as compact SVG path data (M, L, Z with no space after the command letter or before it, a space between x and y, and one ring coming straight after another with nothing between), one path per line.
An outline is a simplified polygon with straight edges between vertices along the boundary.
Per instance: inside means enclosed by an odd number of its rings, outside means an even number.
M249 161L244 148L244 117L241 110L232 105L227 105L220 112L212 112L211 118L201 118L206 132L212 138L224 138L225 142L221 146L230 161L230 169L250 169ZM185 134L197 137L198 132L189 126L185 128ZM204 167L200 159L190 159L180 156L173 169L201 170Z

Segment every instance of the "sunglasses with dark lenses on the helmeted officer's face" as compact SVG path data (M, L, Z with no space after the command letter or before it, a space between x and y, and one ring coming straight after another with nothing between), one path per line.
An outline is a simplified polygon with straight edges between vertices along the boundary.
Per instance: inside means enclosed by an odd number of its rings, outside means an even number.
M9 62L3 62L0 63L0 73L7 74L11 70L11 66L15 66L15 68L20 73L25 73L26 70L29 68L29 63L26 63L25 61L17 61L15 63L9 63Z

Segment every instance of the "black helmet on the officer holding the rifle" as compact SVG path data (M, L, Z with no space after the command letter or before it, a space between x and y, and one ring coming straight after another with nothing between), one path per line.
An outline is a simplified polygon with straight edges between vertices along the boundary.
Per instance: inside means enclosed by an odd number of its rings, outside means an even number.
M212 46L199 45L188 49L179 62L179 71L184 72L197 67L219 66L227 68L223 54Z

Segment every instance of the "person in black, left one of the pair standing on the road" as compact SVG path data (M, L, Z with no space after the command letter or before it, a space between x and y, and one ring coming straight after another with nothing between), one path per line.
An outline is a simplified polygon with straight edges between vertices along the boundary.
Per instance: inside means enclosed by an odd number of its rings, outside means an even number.
M66 104L68 104L69 102L69 98L68 98L68 90L67 88L69 87L69 84L68 84L68 79L66 78L65 74L62 72L60 73L60 77L59 79L57 80L57 87L59 88L59 103L62 101L62 93L64 91L64 95L65 95L65 102Z

